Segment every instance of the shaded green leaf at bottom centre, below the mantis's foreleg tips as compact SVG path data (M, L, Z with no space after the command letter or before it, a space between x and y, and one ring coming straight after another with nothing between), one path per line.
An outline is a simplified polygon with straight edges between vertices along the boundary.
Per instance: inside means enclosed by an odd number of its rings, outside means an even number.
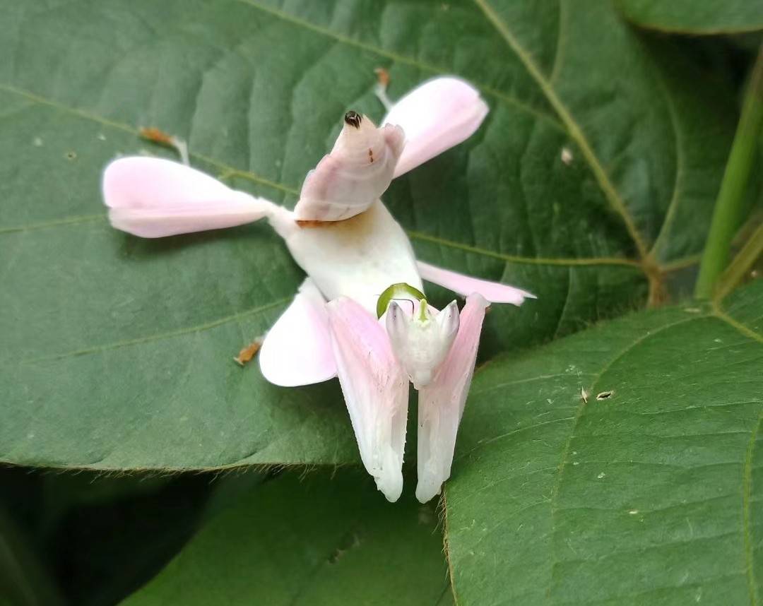
M449 604L436 511L378 497L357 472L288 473L211 521L124 601L148 604Z

